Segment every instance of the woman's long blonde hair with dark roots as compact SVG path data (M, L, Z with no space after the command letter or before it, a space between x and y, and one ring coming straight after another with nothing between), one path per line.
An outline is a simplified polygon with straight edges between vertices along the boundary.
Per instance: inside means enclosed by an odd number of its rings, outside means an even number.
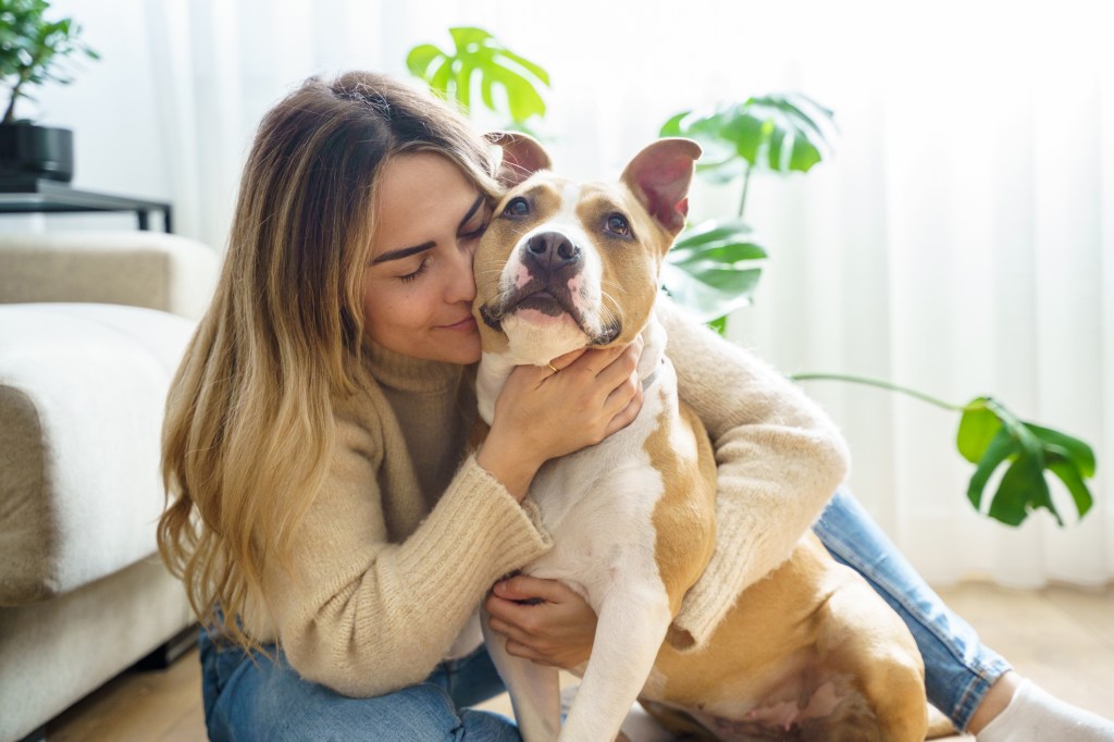
M358 387L373 195L393 156L433 152L497 194L488 147L444 104L390 78L306 80L263 119L221 279L178 368L163 427L164 562L206 625L234 619L287 567L334 442L332 402Z

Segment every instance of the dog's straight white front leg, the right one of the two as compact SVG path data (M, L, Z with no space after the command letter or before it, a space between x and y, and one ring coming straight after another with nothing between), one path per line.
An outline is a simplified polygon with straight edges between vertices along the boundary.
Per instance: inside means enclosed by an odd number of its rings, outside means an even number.
M613 584L596 612L592 656L565 719L561 742L615 739L646 684L672 619L665 592L652 586Z

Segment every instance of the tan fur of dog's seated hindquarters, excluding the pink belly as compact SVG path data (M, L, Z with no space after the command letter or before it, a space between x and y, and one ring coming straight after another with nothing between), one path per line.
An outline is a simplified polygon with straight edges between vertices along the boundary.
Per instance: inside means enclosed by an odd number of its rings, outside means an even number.
M863 631L869 626L870 631ZM707 645L682 653L662 646L654 665L661 682L647 701L714 710L740 699L755 701L775 691L775 680L812 665L846 673L879 716L888 721L877 739L924 740L927 713L920 655L900 618L878 611L878 597L859 575L836 564L813 535L768 578L751 586L724 617ZM659 675L658 675L659 673ZM848 720L846 739L874 739ZM838 728L838 726L837 726ZM836 729L818 731L837 739ZM844 739L844 738L839 738Z

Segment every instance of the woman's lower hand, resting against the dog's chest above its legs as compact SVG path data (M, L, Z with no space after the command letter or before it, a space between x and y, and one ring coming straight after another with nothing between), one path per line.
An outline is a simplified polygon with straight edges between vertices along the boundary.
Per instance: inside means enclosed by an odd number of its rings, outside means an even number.
M491 628L507 637L507 652L516 657L568 670L592 654L596 614L565 583L526 575L499 580L487 609Z

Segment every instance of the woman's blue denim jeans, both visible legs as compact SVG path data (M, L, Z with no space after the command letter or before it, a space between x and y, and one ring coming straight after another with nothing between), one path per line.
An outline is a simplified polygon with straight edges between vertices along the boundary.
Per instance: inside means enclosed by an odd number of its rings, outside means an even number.
M1009 665L944 605L850 494L836 492L814 530L836 559L862 574L908 624L925 657L929 701L966 729ZM350 699L303 680L282 650L266 650L270 657L247 654L202 632L205 723L214 742L521 740L509 720L469 709L504 691L482 647L441 663L423 683L374 699Z

